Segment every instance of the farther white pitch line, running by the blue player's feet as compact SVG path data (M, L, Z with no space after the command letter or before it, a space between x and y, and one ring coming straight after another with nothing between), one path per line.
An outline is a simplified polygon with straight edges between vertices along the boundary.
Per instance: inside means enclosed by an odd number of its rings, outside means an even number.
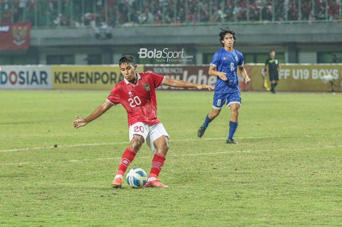
M267 138L305 138L305 137L327 137L326 135L302 135L302 136L247 136L247 137L236 137L237 140L241 139L267 139ZM329 135L329 137L342 137L342 135ZM218 137L218 138L201 138L201 139L178 139L178 140L170 140L172 141L200 141L200 140L225 140L226 137ZM99 146L99 145L115 145L115 144L128 144L128 141L125 142L112 142L112 143L94 143L94 144L71 144L71 145L58 145L58 148L63 147L77 147L77 146ZM26 148L14 148L14 149L5 149L0 150L0 152L14 152L14 151L25 151L25 150L40 150L40 149L56 149L53 146L37 146L37 147L26 147Z

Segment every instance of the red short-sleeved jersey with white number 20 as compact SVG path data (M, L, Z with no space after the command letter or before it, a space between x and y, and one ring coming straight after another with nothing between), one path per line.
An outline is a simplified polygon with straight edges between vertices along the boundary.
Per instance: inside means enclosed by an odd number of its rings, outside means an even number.
M157 124L157 99L155 88L164 83L165 76L155 73L136 73L136 84L125 78L114 85L106 101L114 105L121 103L127 111L128 126L137 122Z

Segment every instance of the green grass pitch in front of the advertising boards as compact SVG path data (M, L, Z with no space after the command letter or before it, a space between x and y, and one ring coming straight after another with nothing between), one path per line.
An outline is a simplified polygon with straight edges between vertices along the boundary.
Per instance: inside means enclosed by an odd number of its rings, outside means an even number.
M170 188L112 189L126 111L71 125L107 93L0 91L1 227L342 226L342 94L243 93L229 145L227 108L196 137L213 93L157 92ZM144 144L131 167L151 159Z

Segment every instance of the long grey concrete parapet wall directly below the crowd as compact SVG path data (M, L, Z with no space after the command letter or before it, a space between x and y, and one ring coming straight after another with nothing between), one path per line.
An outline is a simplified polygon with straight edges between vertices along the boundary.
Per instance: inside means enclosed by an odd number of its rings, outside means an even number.
M109 40L97 40L91 28L32 30L32 46L217 45L217 25L115 27ZM265 23L230 26L244 45L341 43L342 23Z

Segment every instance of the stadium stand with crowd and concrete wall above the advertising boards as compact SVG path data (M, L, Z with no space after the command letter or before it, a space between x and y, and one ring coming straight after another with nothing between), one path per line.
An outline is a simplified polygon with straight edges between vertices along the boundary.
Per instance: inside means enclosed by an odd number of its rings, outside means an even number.
M270 49L284 63L342 63L340 0L0 0L0 24L30 22L29 48L1 50L0 64L139 64L149 50L184 50L208 64L230 26L246 63ZM139 36L139 39L136 39ZM8 41L12 42L12 41Z

